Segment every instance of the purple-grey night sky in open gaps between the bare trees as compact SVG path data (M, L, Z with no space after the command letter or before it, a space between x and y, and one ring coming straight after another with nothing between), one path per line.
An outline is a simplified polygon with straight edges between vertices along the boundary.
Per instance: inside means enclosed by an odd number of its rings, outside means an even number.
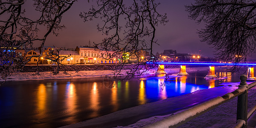
M27 0L27 2L30 0ZM95 2L95 0L94 0ZM164 49L176 49L178 53L195 53L202 56L213 57L213 48L204 42L200 42L197 29L204 27L204 24L198 25L194 20L188 18L188 12L185 12L184 5L193 3L194 0L157 0L161 5L158 6L158 12L167 13L169 22L165 26L157 27L156 38L160 44L154 45L153 52L163 52ZM26 15L36 15L33 11L32 3L26 4ZM101 32L97 32L96 25L100 20L93 20L84 23L79 17L79 13L87 11L90 5L87 0L75 2L71 9L63 15L61 24L66 26L59 32L58 37L49 35L45 46L75 48L76 46L88 45L92 42L100 42L104 38ZM29 14L30 13L30 14ZM41 30L43 32L44 30ZM39 47L40 44L35 44ZM199 52L201 50L201 52Z

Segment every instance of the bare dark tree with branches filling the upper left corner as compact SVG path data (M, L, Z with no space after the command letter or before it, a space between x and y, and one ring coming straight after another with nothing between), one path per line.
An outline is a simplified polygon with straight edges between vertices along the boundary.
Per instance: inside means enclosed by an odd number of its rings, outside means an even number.
M26 0L0 0L0 55L1 77L6 79L12 73L22 70L23 66L32 58L41 55L32 55L28 59L20 58L15 48L32 47L34 41L41 41L44 46L47 36L52 32L64 28L61 25L62 15L70 9L76 0L34 0L34 7L39 16L26 17L23 6ZM47 27L43 36L38 35L42 26Z

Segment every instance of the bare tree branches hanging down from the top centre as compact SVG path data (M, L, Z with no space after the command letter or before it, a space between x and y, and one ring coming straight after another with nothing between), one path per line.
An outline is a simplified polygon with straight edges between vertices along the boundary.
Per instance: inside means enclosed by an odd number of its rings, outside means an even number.
M113 51L108 56L119 57L122 66L126 58L135 55L138 59L128 76L140 76L148 69L145 61L139 59L140 51L149 52L148 61L155 62L152 49L153 44L157 44L156 26L168 22L166 14L157 12L160 3L155 0L96 0L96 3L97 6L92 6L90 11L80 14L84 22L95 18L102 20L97 29L108 37L96 45L102 50ZM115 70L116 76L121 70L122 67Z

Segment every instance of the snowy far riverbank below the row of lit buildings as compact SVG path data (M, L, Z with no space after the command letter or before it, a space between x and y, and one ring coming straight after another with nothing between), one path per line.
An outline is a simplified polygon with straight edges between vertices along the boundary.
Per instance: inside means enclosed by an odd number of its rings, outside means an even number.
M224 67L215 67L216 70L225 69ZM179 72L179 68L167 68L165 69L168 74L175 74ZM186 71L196 72L196 71L207 71L209 67L188 67ZM122 70L119 73L119 76L127 75L127 71ZM155 74L157 69L148 70L143 73L143 75ZM52 75L51 72L40 72L40 75L35 75L35 72L26 72L26 73L13 73L12 76L9 76L6 81L23 81L23 80L41 80L41 79L73 79L73 78L93 78L93 77L106 77L106 76L114 76L113 70L88 70L88 71L79 71L76 73L75 71L68 71L67 74L60 72L57 75ZM172 77L172 76L170 76ZM176 76L173 76L176 77ZM4 79L0 78L0 81L4 81Z

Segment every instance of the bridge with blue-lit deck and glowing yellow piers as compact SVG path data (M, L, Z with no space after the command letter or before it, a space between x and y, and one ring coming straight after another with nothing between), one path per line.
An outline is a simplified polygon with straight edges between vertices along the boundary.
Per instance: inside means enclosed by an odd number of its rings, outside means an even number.
M243 63L243 64L237 64L237 63L188 63L188 62L147 62L147 64L158 64L157 74L159 73L166 73L164 70L163 64L180 64L180 71L177 74L177 76L186 76L189 75L186 73L186 65L210 65L209 71L207 76L205 76L205 79L216 79L217 76L215 75L215 67L214 65L230 65L230 66L248 66L247 68L247 80L255 80L256 77L254 77L254 68L253 66L256 66L256 64L252 63Z

